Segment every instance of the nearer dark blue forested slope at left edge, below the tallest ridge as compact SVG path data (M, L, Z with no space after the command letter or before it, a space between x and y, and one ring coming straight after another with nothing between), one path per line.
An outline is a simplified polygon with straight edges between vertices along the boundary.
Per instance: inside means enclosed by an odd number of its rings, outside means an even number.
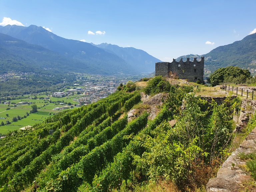
M52 52L38 45L0 33L0 73L10 70L21 72L47 73L60 71L79 71L75 66L86 65L68 59L58 53Z

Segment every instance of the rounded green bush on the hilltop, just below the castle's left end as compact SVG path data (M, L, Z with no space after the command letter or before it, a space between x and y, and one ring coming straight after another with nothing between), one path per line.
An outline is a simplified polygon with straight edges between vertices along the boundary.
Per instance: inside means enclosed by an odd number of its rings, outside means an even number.
M169 92L170 83L162 76L155 76L148 81L147 87L144 89L145 94L157 94L160 92Z

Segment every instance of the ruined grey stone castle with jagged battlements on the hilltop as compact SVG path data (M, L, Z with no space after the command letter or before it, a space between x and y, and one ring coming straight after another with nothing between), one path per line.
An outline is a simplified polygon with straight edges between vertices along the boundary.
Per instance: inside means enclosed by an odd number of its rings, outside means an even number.
M201 57L201 61L190 61L187 58L186 62L181 59L179 62L159 62L156 63L156 76L162 75L168 77L172 74L176 74L180 79L187 79L188 81L196 82L204 80L204 57Z

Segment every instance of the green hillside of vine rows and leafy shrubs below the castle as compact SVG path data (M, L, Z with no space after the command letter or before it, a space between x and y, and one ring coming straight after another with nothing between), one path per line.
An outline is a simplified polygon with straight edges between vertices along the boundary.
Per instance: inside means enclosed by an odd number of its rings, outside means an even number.
M193 189L192 172L210 170L230 141L236 102L208 103L192 91L154 78L145 92L168 97L153 120L144 110L128 122L127 112L143 103L124 87L1 139L0 191L136 191L159 180Z

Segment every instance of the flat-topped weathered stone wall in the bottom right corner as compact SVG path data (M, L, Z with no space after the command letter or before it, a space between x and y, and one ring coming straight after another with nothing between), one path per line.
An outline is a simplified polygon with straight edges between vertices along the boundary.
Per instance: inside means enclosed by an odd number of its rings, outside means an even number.
M246 172L241 169L245 162L239 158L240 153L251 153L256 150L256 128L246 137L228 159L222 164L217 177L207 183L207 192L239 192L242 183L248 179Z

